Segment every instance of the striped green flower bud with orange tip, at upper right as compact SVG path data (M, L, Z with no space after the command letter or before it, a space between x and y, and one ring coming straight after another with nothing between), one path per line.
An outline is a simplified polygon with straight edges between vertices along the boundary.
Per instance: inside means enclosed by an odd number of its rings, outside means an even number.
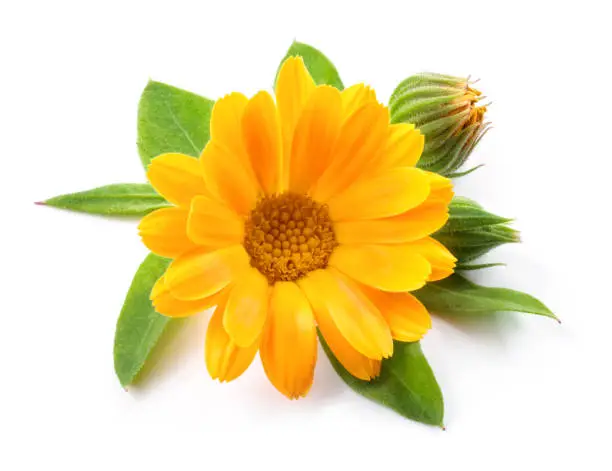
M407 78L389 100L392 123L412 123L425 136L418 166L444 176L460 176L463 165L489 129L481 92L469 79L433 73ZM465 173L462 173L465 174Z

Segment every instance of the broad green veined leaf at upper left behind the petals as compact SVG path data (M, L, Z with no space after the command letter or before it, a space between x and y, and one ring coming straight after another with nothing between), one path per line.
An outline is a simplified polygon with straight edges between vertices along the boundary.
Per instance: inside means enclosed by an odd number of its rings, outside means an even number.
M138 152L144 167L166 152L199 157L210 138L213 105L195 93L149 82L138 105Z

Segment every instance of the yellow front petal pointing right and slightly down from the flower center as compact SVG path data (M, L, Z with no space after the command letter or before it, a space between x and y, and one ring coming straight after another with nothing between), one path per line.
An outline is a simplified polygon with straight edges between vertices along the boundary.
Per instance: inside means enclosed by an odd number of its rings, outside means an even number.
M329 265L360 283L395 293L421 288L431 273L429 262L410 244L341 245Z

